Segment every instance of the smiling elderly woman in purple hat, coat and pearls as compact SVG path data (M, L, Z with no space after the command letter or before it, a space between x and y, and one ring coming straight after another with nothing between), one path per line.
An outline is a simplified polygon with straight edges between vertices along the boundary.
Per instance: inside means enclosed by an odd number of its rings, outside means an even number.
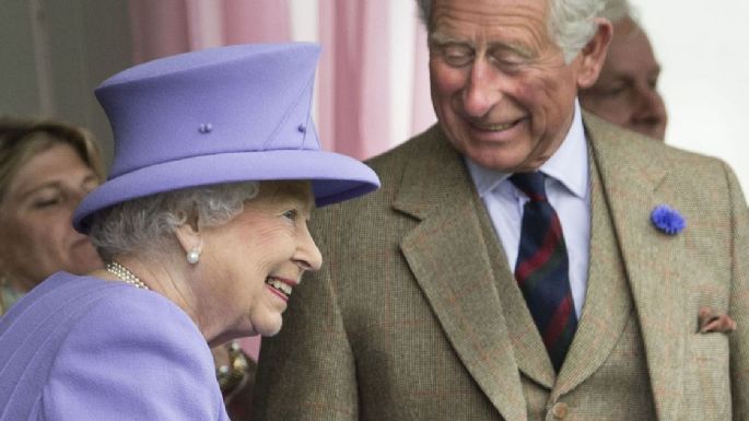
M55 274L0 320L0 420L227 419L209 346L277 334L321 265L315 204L379 184L319 150L317 56L307 44L215 48L97 89L115 160L74 226L106 270Z

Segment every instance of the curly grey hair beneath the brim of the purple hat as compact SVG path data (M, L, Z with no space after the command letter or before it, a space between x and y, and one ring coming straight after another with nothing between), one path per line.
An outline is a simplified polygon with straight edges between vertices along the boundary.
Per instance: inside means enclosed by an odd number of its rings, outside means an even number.
M92 217L92 243L105 261L118 255L159 253L174 244L175 230L196 218L198 226L224 224L260 191L258 182L192 187L125 201Z

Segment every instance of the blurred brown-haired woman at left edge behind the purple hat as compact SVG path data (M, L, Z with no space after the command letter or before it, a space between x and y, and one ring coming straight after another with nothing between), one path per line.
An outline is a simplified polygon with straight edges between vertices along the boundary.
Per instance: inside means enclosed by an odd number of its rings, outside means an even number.
M57 121L0 118L0 315L45 278L104 266L73 211L104 180L98 145Z

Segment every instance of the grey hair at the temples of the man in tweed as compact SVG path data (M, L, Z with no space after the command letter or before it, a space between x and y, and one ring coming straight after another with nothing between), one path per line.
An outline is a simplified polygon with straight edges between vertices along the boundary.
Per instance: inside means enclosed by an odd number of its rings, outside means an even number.
M577 52L593 39L597 24L595 19L600 16L606 0L547 0L549 5L549 21L547 26L551 39L562 49L564 60L571 62ZM417 0L419 15L430 27L432 15L432 0Z

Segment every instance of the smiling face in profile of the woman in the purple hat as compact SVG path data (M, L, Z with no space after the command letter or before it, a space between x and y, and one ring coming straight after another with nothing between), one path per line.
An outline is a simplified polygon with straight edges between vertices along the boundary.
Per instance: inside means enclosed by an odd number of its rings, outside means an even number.
M281 329L294 286L323 264L307 230L314 208L305 182L264 182L260 194L229 223L203 233L201 262L215 278L213 303L242 336L273 336Z

